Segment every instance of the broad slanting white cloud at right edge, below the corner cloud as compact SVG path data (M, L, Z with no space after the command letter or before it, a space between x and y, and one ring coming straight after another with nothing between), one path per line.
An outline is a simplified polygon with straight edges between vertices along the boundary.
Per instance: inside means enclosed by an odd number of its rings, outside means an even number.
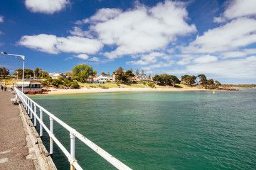
M188 47L181 47L185 53L214 53L236 50L256 42L256 20L238 18L230 23L208 30Z

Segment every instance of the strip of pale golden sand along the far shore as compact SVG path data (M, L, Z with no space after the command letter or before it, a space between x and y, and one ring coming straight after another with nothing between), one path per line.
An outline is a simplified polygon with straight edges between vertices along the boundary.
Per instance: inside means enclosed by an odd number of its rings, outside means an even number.
M86 93L105 93L105 92L127 92L127 91L206 91L206 89L152 89L152 88L110 88L110 89L101 89L101 88L91 88L87 89L83 87L81 89L49 89L48 94L86 94Z

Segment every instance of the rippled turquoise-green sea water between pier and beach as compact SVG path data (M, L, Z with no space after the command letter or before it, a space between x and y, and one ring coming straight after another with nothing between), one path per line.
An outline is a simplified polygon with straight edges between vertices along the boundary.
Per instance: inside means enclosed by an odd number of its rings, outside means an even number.
M255 89L31 98L132 169L256 169ZM70 148L57 123L54 133ZM79 140L76 158L84 169L114 169ZM69 169L57 146L53 160Z

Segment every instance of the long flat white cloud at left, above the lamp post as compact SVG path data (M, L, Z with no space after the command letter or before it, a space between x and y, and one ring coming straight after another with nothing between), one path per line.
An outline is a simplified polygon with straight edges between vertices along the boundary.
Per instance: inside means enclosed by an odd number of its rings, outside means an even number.
M102 48L102 43L89 38L69 36L67 38L56 37L55 35L25 35L18 41L18 45L23 45L34 50L58 54L60 52L75 52L94 54Z

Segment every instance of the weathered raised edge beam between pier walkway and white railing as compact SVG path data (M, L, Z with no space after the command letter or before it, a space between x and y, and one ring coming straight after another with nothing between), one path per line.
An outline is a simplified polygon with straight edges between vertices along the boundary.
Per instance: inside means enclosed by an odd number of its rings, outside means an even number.
M19 111L23 123L23 128L27 135L26 142L29 152L27 158L33 160L33 164L36 166L37 170L57 169L55 164L53 163L53 159L51 157L45 156L48 154L48 151L46 147L43 145L43 142L39 137L36 128L33 126L31 119L29 118L21 103L19 104Z

